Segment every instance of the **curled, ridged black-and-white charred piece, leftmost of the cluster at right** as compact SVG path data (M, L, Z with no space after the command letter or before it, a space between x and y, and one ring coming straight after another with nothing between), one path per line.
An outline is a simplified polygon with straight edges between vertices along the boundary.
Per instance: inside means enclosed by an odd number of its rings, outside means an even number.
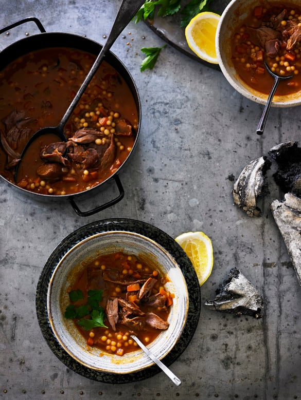
M263 156L251 161L240 173L233 187L233 200L249 217L259 217L261 209L257 199L269 193L265 177L271 167L271 161Z

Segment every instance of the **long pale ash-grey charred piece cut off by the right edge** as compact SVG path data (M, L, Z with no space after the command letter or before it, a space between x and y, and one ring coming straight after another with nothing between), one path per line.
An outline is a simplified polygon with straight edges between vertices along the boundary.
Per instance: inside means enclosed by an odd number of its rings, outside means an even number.
M301 285L301 199L287 193L285 200L272 202L271 210Z

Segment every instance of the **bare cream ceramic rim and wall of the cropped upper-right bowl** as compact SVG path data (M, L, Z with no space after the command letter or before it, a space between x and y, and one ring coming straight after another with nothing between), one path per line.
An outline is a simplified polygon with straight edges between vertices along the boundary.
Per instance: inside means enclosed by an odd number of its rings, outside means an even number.
M250 11L264 4L285 4L283 0L232 0L224 9L216 33L216 52L221 71L228 83L242 96L256 103L265 104L267 94L251 88L238 76L231 60L231 36L233 31L246 18ZM299 0L289 0L290 5L300 7ZM272 107L293 107L301 105L301 91L289 94L288 96L274 96Z

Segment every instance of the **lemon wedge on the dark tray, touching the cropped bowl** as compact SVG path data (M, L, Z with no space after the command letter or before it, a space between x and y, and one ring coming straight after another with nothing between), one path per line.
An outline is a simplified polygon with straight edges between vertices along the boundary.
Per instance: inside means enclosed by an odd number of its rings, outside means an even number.
M215 36L220 15L214 12L201 12L189 22L185 29L185 37L190 49L202 60L218 64Z

